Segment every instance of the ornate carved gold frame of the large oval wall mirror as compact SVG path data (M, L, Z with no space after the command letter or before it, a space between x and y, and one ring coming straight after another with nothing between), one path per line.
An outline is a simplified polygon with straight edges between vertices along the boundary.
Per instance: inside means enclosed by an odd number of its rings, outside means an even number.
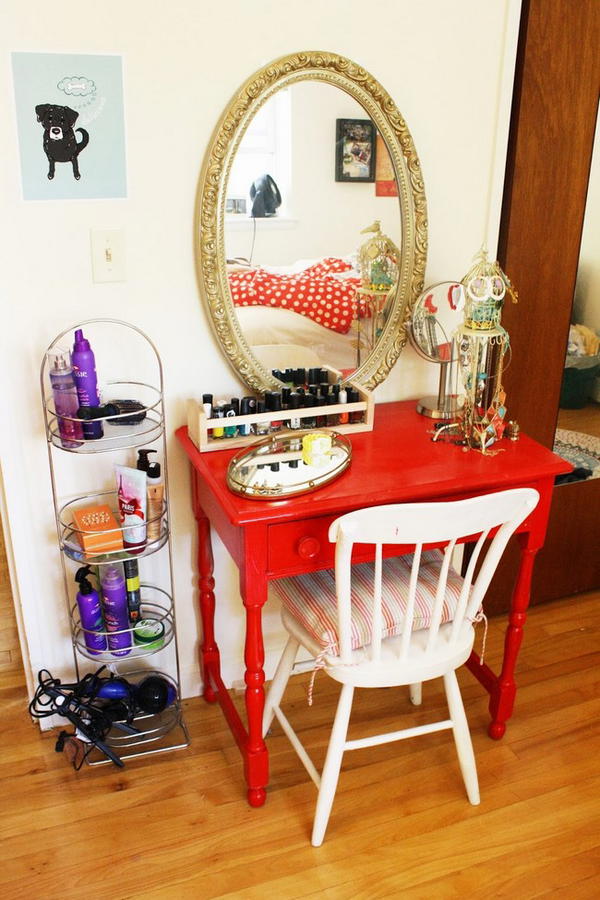
M321 51L283 56L252 75L223 113L205 157L196 197L200 291L219 343L238 375L257 391L277 387L279 382L252 354L235 315L226 270L225 198L233 159L256 112L277 91L309 80L337 86L361 104L387 145L396 177L402 229L398 290L377 345L353 374L354 381L372 389L398 359L406 343L413 303L423 290L427 208L421 166L406 122L379 82L351 60Z

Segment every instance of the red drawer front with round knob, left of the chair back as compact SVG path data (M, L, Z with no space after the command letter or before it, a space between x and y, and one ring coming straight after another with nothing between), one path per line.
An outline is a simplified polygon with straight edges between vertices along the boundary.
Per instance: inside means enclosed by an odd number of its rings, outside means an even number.
M269 526L269 574L292 575L333 567L335 544L327 536L337 516Z

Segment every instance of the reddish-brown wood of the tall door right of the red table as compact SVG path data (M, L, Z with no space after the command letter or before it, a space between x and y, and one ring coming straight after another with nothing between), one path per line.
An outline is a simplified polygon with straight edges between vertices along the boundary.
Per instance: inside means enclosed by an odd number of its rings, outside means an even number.
M506 304L508 415L552 447L558 418L600 85L598 0L523 0L498 259L519 292ZM600 584L600 479L554 491L532 602ZM511 548L486 598L507 608Z

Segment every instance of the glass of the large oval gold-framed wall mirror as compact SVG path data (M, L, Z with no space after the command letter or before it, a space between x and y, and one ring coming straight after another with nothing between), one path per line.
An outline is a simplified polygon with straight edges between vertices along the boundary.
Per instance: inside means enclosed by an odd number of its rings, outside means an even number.
M319 81L274 93L238 146L225 210L231 300L259 362L358 368L395 300L402 247L393 167L362 106ZM376 222L398 259L373 286L359 253Z

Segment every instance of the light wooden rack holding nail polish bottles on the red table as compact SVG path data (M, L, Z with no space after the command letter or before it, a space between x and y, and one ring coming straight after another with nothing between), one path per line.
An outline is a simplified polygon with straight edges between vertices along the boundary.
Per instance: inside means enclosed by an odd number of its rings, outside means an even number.
M328 367L323 368L329 371L333 376L334 381L337 381L338 378L341 377L341 374L337 372L337 370L329 369ZM271 422L283 420L284 424L278 433L280 435L293 434L294 431L285 424L286 421L289 421L292 417L301 422L301 428L310 431L319 431L320 428L326 428L340 434L372 431L374 416L372 394L351 379L344 381L344 385L354 388L358 392L359 399L357 401L352 403L333 404L326 407L302 407L300 409L294 409L293 411L284 409L277 412L251 413L250 415L233 416L227 419L209 419L204 412L202 404L196 400L190 400L188 402L188 434L196 447L198 447L200 451L205 452L213 450L234 450L238 447L247 447L250 444L256 443L257 440L261 439L261 435L257 433L256 426L261 423L267 423L267 425L269 425ZM339 419L340 416L343 416L347 421L343 423L333 421ZM314 420L321 417L326 419L324 425L313 424ZM212 437L212 430L214 428L223 428L224 423L236 429L240 426L250 426L252 433L248 435L237 434L235 437L226 438ZM266 435L262 435L262 437L265 436Z

